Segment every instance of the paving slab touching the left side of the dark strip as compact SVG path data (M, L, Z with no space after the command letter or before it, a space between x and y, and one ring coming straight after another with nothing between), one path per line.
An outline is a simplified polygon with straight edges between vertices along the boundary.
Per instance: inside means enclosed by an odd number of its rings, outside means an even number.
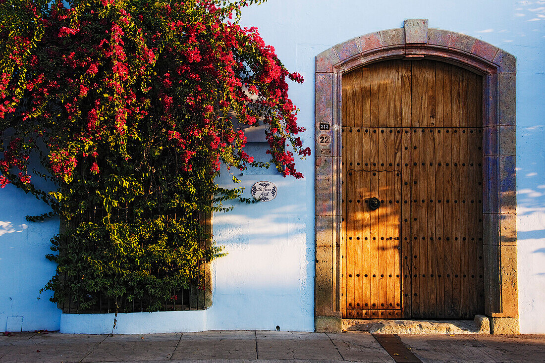
M393 362L392 357L366 332L327 334L344 360Z

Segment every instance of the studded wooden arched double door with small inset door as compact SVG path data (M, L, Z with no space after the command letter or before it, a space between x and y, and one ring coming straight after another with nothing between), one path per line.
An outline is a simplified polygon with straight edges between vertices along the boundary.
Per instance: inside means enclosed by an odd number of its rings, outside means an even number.
M343 75L344 318L483 313L481 198L480 75L402 59Z

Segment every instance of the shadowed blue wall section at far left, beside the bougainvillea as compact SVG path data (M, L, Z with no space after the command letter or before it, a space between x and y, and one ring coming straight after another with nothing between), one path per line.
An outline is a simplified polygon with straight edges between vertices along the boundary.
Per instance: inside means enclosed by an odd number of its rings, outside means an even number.
M55 273L45 255L59 220L27 222L28 214L45 213L47 206L11 185L1 193L0 331L58 330L60 310L49 301L51 293L40 295L40 289Z

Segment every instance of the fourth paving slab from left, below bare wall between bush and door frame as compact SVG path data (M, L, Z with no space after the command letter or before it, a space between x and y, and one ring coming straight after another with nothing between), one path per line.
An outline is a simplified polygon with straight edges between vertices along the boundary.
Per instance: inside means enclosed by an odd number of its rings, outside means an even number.
M256 336L258 359L342 359L325 334L257 331Z

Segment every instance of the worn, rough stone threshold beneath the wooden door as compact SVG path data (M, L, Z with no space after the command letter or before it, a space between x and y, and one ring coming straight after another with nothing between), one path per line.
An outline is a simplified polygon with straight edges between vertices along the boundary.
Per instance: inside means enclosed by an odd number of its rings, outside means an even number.
M372 334L490 334L490 321L484 315L476 315L474 320L342 319L342 330Z

